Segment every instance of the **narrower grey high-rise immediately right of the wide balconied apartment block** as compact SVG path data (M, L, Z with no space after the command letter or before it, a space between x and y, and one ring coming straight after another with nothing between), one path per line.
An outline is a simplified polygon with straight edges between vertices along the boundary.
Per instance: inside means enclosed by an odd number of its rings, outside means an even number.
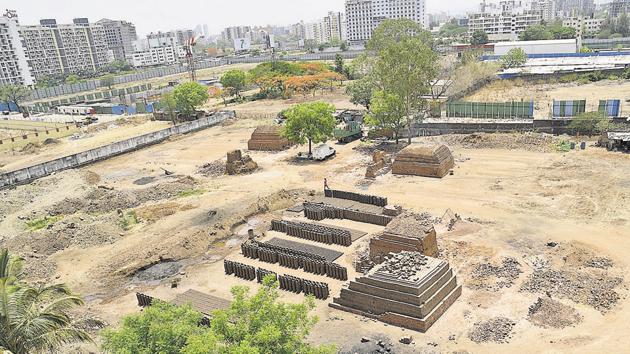
M127 21L114 21L102 19L96 24L105 29L105 41L112 51L115 60L131 63L133 58L133 42L138 40L136 26Z

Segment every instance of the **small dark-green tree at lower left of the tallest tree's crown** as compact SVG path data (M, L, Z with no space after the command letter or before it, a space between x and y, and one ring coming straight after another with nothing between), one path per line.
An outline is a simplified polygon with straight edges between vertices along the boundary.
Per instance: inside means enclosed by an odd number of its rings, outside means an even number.
M398 144L400 133L406 124L404 102L394 94L375 92L372 109L365 116L365 124L376 129L391 130Z

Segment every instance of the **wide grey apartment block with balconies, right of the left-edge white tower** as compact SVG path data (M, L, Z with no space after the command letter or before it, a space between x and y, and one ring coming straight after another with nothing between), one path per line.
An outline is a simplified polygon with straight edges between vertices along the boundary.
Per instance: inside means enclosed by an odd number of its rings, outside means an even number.
M72 24L41 20L39 25L21 26L20 34L35 78L98 71L110 62L104 27L86 18Z

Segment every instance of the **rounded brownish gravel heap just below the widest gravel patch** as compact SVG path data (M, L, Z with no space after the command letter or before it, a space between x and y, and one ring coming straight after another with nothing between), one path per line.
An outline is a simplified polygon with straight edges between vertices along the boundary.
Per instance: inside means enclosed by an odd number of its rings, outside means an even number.
M527 319L543 328L565 328L582 322L580 315L573 307L548 297L540 297L529 307Z

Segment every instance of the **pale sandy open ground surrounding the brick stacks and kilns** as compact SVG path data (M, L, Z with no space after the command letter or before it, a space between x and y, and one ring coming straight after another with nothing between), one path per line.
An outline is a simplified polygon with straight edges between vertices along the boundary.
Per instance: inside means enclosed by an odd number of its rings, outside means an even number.
M320 190L322 180L328 178L334 188L387 196L390 203L417 212L439 217L450 209L461 215L463 221L452 231L445 225L436 229L441 256L457 270L464 292L426 334L333 310L327 306L332 299L318 301L320 322L310 336L312 342L336 343L343 351L360 352L353 348L363 336L385 336L396 343L412 335L413 345L394 346L395 352L402 353L592 353L623 352L630 347L625 335L630 315L627 280L615 288L621 298L609 311L558 297L583 316L581 323L564 329L541 328L528 321L529 306L545 294L519 291L532 275L532 259L537 257L547 258L561 270L623 277L630 267L629 155L594 147L541 153L452 146L457 161L453 176L439 180L388 174L366 181L363 176L370 156L354 149L361 144L354 142L335 144L337 156L320 164L293 162L291 157L299 150L294 148L280 153L250 152L261 168L249 175L206 178L196 173L201 165L224 158L227 151L245 148L254 128L263 122L237 120L2 191L0 246L23 255L27 269L39 275L34 278L68 283L86 298L91 313L116 324L123 314L138 311L135 292L169 300L191 288L224 298L229 298L233 285L256 288L252 282L224 276L222 259L242 260L238 248L247 237L247 228L262 234L269 220L281 217L283 209L303 200L309 190ZM165 176L161 168L176 176ZM193 180L172 192L171 184L185 176ZM114 190L99 191L96 184ZM181 194L185 190L181 188L197 192ZM153 193L151 197L142 199L148 192ZM63 216L50 229L28 230L29 219L70 208L64 203L68 197L89 201L93 193L105 193L98 201L103 203L98 212L82 209ZM136 201L133 208L141 215L138 224L123 228L117 223L116 203L121 197L116 193L126 193ZM104 223L107 229L102 228ZM341 262L349 265L352 251L368 242L378 228L335 223L371 233L342 257ZM83 230L84 224L93 228L63 238L72 228ZM550 248L550 241L558 245ZM590 270L576 254L607 257L614 266L605 272ZM487 286L480 287L480 280L473 276L476 265L497 264L505 257L516 259L522 274L510 287L497 289L492 279L483 280ZM172 271L152 272L156 264L172 265ZM151 278L154 273L160 276ZM343 285L301 276L330 283L333 296ZM176 288L171 288L173 282L178 283ZM282 298L303 299L288 293ZM499 316L516 323L509 343L477 344L468 338L474 323Z

